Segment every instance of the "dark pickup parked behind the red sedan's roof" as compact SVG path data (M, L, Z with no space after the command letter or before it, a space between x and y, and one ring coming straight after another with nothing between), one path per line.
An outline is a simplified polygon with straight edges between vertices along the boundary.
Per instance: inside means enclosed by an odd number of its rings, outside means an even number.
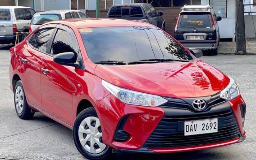
M163 14L161 11L156 13L151 4L116 4L110 7L107 18L143 21L165 30Z

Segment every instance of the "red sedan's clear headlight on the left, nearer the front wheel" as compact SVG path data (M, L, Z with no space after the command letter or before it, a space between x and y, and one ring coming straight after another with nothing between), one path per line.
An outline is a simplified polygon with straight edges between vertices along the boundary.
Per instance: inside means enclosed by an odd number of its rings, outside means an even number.
M123 89L104 80L101 80L101 84L110 91L110 93L126 104L156 107L167 102L166 99L160 96Z

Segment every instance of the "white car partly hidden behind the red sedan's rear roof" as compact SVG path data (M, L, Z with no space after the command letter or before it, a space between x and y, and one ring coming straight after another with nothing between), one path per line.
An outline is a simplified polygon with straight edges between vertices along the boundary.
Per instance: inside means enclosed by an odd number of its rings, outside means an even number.
M41 26L46 22L57 21L61 19L71 19L71 18L88 18L88 16L82 11L70 10L70 9L40 12L40 13L36 13L32 17L29 30L33 31L37 27Z

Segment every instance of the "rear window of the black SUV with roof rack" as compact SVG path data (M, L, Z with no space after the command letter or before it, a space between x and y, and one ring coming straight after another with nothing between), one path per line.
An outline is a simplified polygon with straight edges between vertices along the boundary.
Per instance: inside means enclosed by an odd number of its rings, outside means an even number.
M211 28L210 14L183 14L179 28Z

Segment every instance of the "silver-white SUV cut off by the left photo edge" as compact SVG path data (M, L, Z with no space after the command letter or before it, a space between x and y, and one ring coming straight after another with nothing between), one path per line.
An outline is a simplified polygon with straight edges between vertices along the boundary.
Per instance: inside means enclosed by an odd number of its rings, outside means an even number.
M0 6L0 43L15 43L16 32L28 32L35 10L22 6Z

